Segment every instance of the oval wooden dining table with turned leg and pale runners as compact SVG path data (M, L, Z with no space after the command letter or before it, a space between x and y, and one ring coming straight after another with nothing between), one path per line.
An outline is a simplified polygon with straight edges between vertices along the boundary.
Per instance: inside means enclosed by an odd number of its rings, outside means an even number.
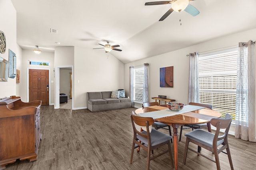
M185 105L180 111L172 111L164 106L141 107L135 110L142 117L152 117L155 121L173 127L174 166L178 170L178 128L186 124L207 123L211 132L210 119L220 118L219 111L202 106Z

